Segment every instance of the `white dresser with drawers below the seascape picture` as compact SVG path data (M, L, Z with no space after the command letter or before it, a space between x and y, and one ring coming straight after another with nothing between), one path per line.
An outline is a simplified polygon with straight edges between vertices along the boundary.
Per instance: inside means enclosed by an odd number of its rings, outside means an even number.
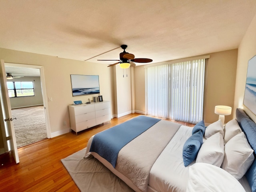
M110 101L91 104L69 105L71 129L79 132L110 121Z

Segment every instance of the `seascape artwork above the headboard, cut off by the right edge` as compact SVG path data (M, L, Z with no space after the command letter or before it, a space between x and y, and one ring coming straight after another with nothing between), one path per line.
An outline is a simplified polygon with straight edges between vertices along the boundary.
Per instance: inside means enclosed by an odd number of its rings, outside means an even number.
M256 56L248 61L244 106L256 114Z

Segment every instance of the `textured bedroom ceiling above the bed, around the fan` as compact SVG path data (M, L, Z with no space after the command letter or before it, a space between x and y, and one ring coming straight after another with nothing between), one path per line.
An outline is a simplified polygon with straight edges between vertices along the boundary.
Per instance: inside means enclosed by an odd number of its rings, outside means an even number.
M119 59L127 44L156 63L238 48L256 0L0 0L0 7L1 48L99 62Z

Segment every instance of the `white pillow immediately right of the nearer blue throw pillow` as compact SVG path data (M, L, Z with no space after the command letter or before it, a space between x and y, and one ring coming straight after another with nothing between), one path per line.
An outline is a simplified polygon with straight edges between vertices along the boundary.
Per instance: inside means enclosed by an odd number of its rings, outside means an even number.
M208 163L220 167L224 158L224 141L218 132L206 139L202 144L196 163Z

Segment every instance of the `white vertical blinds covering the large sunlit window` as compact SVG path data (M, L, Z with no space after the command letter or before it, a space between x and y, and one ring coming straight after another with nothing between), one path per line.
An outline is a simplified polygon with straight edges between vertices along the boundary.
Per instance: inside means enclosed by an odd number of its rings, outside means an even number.
M203 119L205 59L146 68L146 113L197 123Z

